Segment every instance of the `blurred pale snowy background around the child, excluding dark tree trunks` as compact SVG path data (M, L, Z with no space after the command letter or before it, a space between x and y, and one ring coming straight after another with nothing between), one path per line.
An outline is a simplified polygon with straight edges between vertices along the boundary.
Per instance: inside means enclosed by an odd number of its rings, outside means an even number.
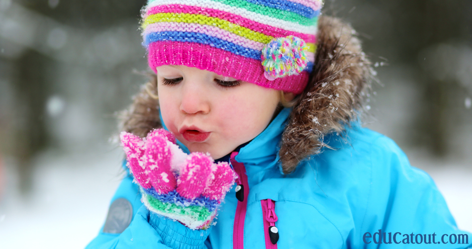
M98 9L119 5L108 0L70 2L92 2L90 8L99 2L102 6ZM98 18L94 20L98 24L88 29L84 26L90 24L80 16L86 16L88 11L79 13L76 19L61 17L60 11L67 10L62 7L69 6L70 2L0 0L0 249L84 248L103 224L110 198L123 174L123 153L108 137L117 131L114 112L129 105L130 96L144 82L143 77L133 74L132 70L147 67L137 30L139 7L145 0L119 1L122 5L114 9L116 11L128 9L128 5L132 5L129 2L134 4L135 9L127 19L105 25ZM449 92L450 106L445 109L445 116L439 121L433 120L434 117L427 120L428 124L441 122L448 127L444 140L448 152L437 156L424 144L416 144L417 138L412 136L418 132L414 130L418 127L414 118L423 115L425 110L420 101L424 89L416 84L419 77L414 70L418 68L402 64L401 60L395 62L398 49L407 46L390 44L389 50L381 50L390 37L385 35L405 31L403 26L395 29L394 18L389 16L396 2L379 1L375 5L367 0L340 1L355 4L344 10L348 12L346 16L352 17L354 27L369 30L369 34L361 32L366 47L372 49L369 51L374 50L374 54L391 60L388 66L377 68L384 87L375 86L376 94L371 96L368 106L373 116L365 120L366 126L391 137L413 166L428 172L444 195L458 227L472 232L470 27L463 28L469 30L466 35L469 40L452 37L415 52L417 66L430 77L428 81L454 82L455 85L448 83L447 88L459 92ZM438 3L435 4L437 7ZM94 12L94 8L91 11L91 18L100 15L112 18L106 13ZM459 13L455 11L454 15L456 12ZM116 16L114 12L113 16ZM80 18L84 21L77 22ZM448 21L443 21L444 25ZM451 19L454 24L453 21ZM49 90L40 110L44 110L41 118L52 143L34 153L32 177L28 180L30 190L22 192L19 186L25 183L20 180L21 158L14 153L18 149L18 136L14 132L22 128L26 117L22 104L27 99L18 97L21 89L17 89L16 79L27 72L18 61L31 53L47 58L46 66L33 65L43 67L41 79L48 82ZM372 59L386 61L375 56ZM32 83L36 84L34 79Z

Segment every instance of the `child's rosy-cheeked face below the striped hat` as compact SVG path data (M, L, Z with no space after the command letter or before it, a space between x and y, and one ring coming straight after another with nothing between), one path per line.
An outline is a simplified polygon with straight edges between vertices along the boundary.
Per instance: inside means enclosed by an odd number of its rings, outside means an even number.
M157 79L164 124L190 152L213 159L261 133L280 102L275 89L193 67L160 66Z

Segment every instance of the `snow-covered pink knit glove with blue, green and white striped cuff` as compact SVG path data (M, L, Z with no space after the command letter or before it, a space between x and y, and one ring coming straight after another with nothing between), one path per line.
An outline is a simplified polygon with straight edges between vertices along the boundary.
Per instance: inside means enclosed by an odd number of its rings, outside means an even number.
M164 129L152 130L144 139L128 132L120 138L148 210L190 229L208 228L237 177L231 166L214 163L209 154L184 153Z

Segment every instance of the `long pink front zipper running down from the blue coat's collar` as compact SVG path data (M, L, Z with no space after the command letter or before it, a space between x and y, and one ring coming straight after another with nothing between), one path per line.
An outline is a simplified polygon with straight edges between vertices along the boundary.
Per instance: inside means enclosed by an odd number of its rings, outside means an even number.
M244 249L244 220L246 219L246 210L248 204L249 184L246 168L243 163L237 162L234 157L238 152L233 151L230 156L230 162L234 171L238 174L236 196L238 198L238 206L236 207L236 215L234 217L233 226L233 249ZM238 192L240 195L238 195ZM241 195L242 194L242 195ZM241 200L242 199L242 200Z

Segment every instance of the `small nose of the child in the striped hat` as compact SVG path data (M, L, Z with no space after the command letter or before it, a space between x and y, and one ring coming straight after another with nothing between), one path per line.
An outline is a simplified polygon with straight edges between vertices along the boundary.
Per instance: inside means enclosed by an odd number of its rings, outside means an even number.
M186 82L182 87L180 111L186 114L208 114L210 112L208 97L208 91L205 91L203 84Z

